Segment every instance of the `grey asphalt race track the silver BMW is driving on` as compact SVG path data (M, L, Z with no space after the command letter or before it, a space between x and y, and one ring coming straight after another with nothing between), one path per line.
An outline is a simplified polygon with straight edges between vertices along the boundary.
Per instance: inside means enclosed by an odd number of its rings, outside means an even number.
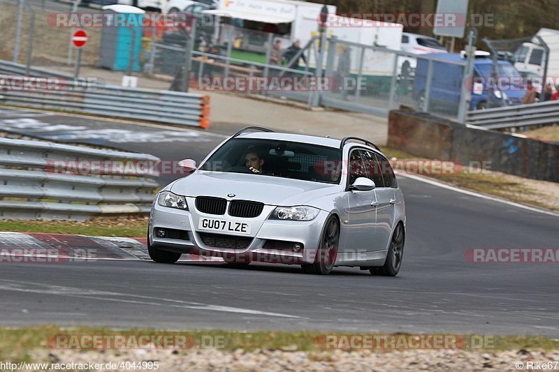
M0 128L10 125L15 131L14 122L6 120L30 119L31 114L1 109ZM107 126L54 114L34 119ZM117 123L111 128L161 131ZM62 129L18 131L64 135ZM196 133L201 138L194 143L108 137L80 141L161 158L200 159L221 137ZM74 135L68 141L76 140ZM559 336L558 263L472 263L465 258L468 248L558 248L557 216L415 179L399 181L407 238L395 278L344 267L331 276L312 276L301 274L297 266L255 263L248 269L148 260L5 263L0 264L0 324Z

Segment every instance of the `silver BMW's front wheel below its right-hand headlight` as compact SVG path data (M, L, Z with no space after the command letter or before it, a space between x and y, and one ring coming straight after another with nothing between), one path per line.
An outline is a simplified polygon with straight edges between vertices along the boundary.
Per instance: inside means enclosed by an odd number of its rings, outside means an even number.
M303 264L301 268L306 274L328 275L331 273L337 257L337 245L340 242L340 223L335 216L330 216L320 239L320 246L314 263Z

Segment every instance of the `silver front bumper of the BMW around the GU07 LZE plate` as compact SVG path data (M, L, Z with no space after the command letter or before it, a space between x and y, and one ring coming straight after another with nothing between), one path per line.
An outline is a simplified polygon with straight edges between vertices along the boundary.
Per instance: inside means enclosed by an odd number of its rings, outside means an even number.
M204 214L194 207L194 198L187 198L190 210L184 211L162 207L154 203L150 213L150 225L148 231L149 243L154 248L178 253L191 253L208 258L223 258L226 262L270 262L283 264L312 263L317 254L317 247L321 237L322 228L329 213L320 211L319 215L312 221L277 221L268 217L274 211L275 206L264 206L262 213L255 218L231 217L227 214L215 215ZM228 210L228 209L227 209ZM250 235L228 232L210 232L198 230L198 222L201 218L217 218L231 222L244 222L252 225ZM158 237L157 229L173 229L187 233L187 239L170 239ZM243 248L220 248L205 244L202 234L222 235L225 238L240 237L249 241ZM183 234L184 235L184 234ZM219 237L219 236L218 236ZM299 252L291 248L270 248L272 241L296 242L303 245ZM276 244L277 246L278 244Z

